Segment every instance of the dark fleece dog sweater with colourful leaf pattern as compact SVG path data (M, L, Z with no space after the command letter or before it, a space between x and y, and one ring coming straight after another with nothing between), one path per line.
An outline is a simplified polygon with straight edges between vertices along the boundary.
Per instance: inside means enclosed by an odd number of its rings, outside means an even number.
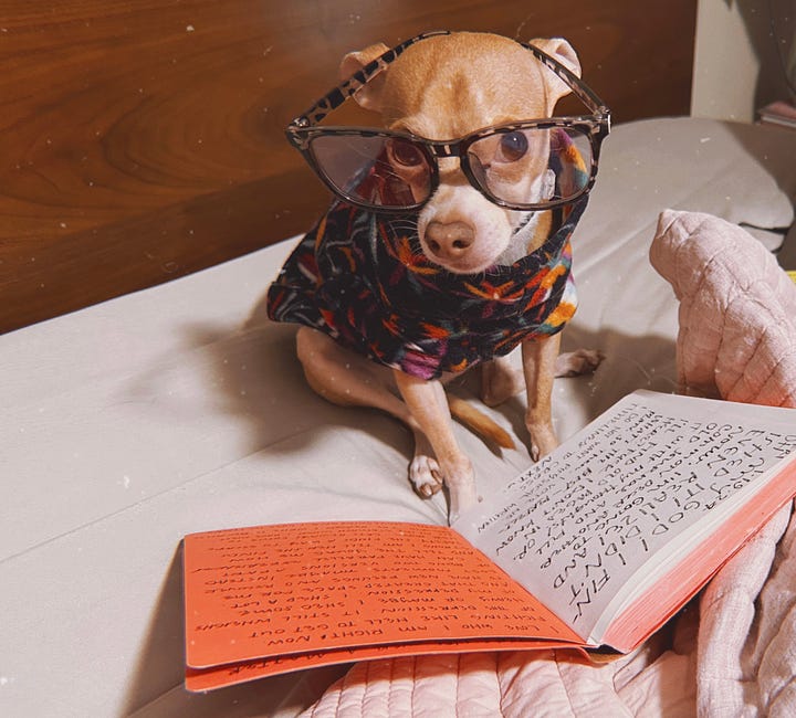
M554 212L545 244L511 266L453 274L420 249L416 218L335 202L269 288L268 313L422 378L461 372L575 313L569 236L587 197Z

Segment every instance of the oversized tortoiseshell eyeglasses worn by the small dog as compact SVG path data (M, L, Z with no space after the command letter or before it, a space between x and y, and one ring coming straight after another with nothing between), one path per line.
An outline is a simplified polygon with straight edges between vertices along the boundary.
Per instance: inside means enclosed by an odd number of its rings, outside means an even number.
M337 197L369 210L421 208L439 186L443 158L458 158L470 183L507 209L552 209L586 194L610 131L610 110L577 75L532 44L515 41L563 80L590 115L495 125L444 141L368 127L317 126L407 47L447 34L417 35L365 65L287 126L290 142Z

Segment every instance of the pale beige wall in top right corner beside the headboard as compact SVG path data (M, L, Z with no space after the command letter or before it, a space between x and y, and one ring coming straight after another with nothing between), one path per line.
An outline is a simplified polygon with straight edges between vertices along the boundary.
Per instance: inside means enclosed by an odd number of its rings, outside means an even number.
M762 105L790 97L771 35L769 4L793 63L796 0L699 0L692 115L751 122Z

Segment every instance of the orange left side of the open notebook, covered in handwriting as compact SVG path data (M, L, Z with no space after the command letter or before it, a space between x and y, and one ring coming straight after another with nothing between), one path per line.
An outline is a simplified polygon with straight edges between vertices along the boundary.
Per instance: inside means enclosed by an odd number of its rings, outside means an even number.
M441 526L352 521L193 534L185 539L185 594L191 690L387 653L582 643Z

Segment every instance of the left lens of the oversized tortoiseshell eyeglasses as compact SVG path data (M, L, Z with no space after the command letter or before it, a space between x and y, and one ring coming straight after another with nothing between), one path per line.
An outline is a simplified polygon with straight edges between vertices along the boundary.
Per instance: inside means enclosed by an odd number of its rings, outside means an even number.
M413 207L431 193L432 160L405 137L318 135L311 151L343 198L375 208Z

